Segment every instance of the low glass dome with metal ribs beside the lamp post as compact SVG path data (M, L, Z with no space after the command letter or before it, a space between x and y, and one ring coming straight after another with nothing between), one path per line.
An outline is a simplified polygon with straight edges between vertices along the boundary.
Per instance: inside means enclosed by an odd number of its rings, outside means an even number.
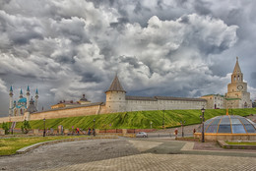
M237 115L223 115L205 122L205 133L256 134L256 124Z

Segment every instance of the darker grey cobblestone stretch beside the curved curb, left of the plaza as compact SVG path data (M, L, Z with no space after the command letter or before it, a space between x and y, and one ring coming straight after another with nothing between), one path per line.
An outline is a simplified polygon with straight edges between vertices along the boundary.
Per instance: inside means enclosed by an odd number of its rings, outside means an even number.
M0 170L40 170L139 153L124 139L60 142L39 146L25 154L2 156Z

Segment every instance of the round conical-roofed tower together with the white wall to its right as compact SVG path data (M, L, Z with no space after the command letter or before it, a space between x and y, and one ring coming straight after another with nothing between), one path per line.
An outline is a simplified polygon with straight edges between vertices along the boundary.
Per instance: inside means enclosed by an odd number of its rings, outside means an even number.
M207 105L203 98L184 98L172 96L128 96L118 77L105 91L105 110L107 113L143 110L201 109Z

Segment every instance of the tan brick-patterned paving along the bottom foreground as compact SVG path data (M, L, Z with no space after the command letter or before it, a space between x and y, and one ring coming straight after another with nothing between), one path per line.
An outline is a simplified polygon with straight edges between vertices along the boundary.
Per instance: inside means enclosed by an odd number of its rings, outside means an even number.
M44 171L255 171L256 158L184 154L138 154L101 161L69 165Z

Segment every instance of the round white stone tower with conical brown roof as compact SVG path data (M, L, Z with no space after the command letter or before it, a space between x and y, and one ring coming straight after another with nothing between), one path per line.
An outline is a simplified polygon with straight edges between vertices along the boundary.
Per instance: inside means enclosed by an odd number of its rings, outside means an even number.
M120 84L118 77L116 75L112 84L105 91L105 106L107 109L107 113L126 111L125 93L126 91Z

